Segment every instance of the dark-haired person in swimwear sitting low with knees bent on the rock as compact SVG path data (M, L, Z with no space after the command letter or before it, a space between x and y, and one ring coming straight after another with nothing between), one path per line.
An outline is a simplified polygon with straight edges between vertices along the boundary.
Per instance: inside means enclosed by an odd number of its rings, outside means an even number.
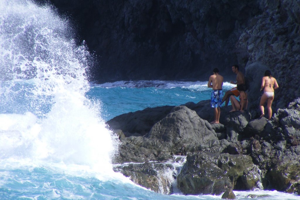
M238 85L237 90L240 94L240 101L238 101L233 95L230 96L230 102L232 104L232 110L229 112L234 112L237 110L240 110L241 112L244 112L244 109L247 109L248 106L248 95L245 92L245 87L244 85Z

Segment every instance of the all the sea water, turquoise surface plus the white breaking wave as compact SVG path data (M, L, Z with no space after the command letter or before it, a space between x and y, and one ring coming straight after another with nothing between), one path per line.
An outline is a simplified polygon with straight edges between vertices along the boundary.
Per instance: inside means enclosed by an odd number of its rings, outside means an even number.
M208 99L206 83L88 83L92 58L74 35L49 6L0 1L0 199L220 199L155 193L114 172L118 141L105 124L146 107ZM235 194L300 199L276 191Z

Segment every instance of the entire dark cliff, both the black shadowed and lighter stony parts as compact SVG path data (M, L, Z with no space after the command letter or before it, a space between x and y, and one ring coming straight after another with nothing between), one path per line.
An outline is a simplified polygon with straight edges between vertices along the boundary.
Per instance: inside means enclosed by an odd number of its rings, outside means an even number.
M280 86L274 106L284 107L300 96L298 0L50 3L70 17L79 40L98 58L91 69L93 81L207 80L214 67L229 81L235 79L233 64L246 73L248 66L261 63Z

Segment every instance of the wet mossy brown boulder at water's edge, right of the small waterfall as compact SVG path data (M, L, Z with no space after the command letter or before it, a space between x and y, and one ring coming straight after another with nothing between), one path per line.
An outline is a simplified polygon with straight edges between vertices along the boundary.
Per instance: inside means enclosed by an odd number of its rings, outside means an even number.
M251 190L259 181L258 168L256 175L252 159L246 155L212 154L201 152L187 156L177 178L179 189L184 194L216 194L220 195L228 188L239 187ZM247 178L255 181L247 181ZM252 183L252 184L250 184Z

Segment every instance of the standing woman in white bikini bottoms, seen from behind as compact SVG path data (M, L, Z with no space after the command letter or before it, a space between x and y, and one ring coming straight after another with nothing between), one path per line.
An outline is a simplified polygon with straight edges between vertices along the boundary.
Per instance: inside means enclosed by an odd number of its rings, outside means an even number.
M269 120L272 117L272 102L274 100L274 90L277 89L278 83L276 81L276 79L274 77L272 77L271 75L271 71L270 70L266 70L265 71L265 76L262 77L262 85L261 85L261 89L260 91L263 90L263 94L262 97L260 98L260 103L259 103L259 107L260 107L260 111L261 111L261 115L260 117L263 117L265 115L265 101L268 100L267 103L267 107L268 107L268 114L269 114Z

